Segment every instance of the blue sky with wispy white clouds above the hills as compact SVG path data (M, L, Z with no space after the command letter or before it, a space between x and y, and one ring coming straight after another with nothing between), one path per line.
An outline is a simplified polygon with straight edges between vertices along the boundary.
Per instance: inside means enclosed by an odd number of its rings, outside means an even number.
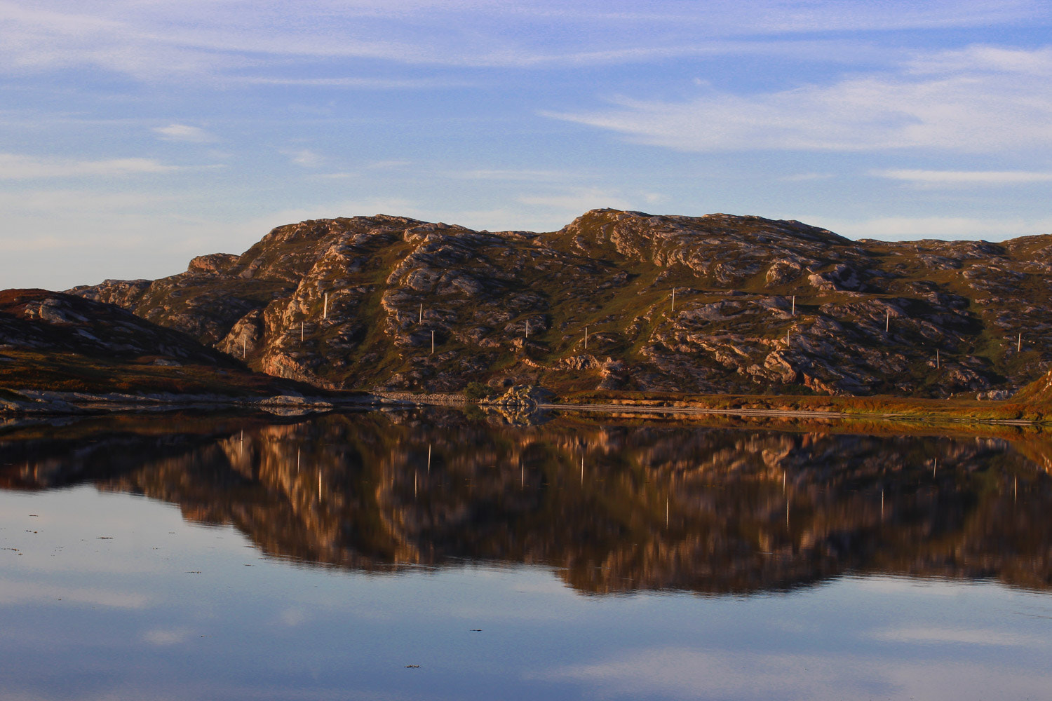
M304 219L1052 233L1052 3L0 0L0 288Z

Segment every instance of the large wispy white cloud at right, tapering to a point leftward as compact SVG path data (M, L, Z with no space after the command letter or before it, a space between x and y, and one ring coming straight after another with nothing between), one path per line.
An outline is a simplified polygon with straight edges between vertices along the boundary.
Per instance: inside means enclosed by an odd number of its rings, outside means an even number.
M918 75L914 61L895 73L830 85L756 95L706 91L686 102L616 98L606 109L542 114L683 151L1052 147L1052 91L1044 67L1050 49L1014 51L1012 60L999 61L979 49L952 53L952 70L937 75ZM928 63L948 56L934 54Z

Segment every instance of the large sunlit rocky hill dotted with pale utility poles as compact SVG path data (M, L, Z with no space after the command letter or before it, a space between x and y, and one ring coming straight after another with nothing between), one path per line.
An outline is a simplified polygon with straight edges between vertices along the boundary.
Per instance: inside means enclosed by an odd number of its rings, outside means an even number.
M332 388L949 396L1052 366L1050 274L1052 236L852 242L593 210L552 233L308 221L171 277L70 292Z

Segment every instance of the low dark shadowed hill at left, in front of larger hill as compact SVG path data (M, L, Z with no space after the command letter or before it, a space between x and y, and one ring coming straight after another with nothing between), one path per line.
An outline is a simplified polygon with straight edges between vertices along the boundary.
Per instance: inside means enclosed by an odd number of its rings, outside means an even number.
M0 387L269 394L292 384L115 305L46 290L0 291Z

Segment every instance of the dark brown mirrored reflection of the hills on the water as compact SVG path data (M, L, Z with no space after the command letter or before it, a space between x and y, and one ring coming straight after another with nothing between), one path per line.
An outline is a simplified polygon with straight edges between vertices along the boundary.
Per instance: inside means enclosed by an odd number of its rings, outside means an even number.
M754 592L846 571L1052 586L1052 479L1035 444L1024 457L997 439L493 428L458 414L99 440L50 456L23 446L18 459L0 446L14 463L2 483L92 479L304 561L539 562L596 593Z

